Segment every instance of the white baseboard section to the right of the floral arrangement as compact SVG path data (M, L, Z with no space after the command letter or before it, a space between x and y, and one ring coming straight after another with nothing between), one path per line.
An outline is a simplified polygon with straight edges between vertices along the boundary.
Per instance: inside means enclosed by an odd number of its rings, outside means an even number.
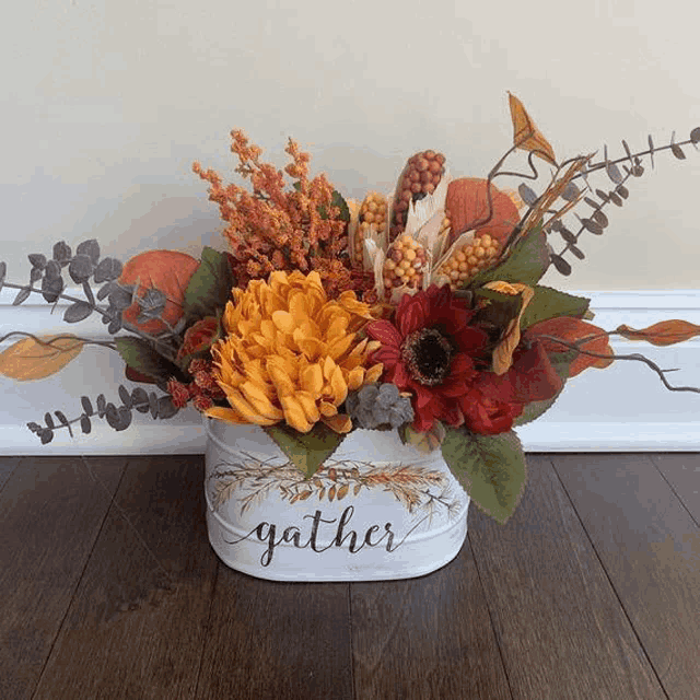
M591 299L593 324L612 330L681 318L700 325L700 290L571 291ZM674 386L700 387L700 339L665 348L610 338L618 354L641 353L661 369L677 369ZM641 362L590 369L570 380L541 418L517 428L527 452L700 451L700 395L670 392Z

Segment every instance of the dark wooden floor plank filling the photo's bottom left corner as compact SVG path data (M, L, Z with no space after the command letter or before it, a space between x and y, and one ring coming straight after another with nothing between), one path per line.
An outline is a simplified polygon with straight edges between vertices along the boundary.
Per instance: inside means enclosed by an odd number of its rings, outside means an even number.
M32 697L125 466L23 459L0 492L1 698Z

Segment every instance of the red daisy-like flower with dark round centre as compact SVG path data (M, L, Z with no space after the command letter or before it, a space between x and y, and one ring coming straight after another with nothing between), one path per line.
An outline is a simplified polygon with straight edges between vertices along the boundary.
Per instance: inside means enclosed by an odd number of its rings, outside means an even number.
M483 354L487 334L469 325L474 312L452 295L450 287L431 285L401 298L395 320L368 325L382 347L372 362L384 363L384 378L413 393L413 428L430 430L434 420L464 423L459 399L478 375L474 358Z

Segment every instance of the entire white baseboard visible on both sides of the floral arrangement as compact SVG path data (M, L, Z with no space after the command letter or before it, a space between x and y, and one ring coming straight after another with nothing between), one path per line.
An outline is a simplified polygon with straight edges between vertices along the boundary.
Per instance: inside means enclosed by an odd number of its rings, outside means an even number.
M700 290L572 292L592 299L593 323L612 329L620 324L643 328L658 320L684 318L700 325ZM75 295L80 295L75 293ZM14 293L0 292L0 335L10 330L34 334L73 332L91 339L108 338L96 318L68 325L59 305L49 313L43 300L12 306ZM3 343L4 346L9 343ZM700 340L655 348L615 339L619 353L642 352L661 368L681 368L667 375L674 385L700 387ZM0 350L3 348L0 346ZM83 357L58 375L40 382L15 383L0 377L0 454L199 454L205 450L200 417L194 409L170 421L136 415L135 423L115 432L95 421L90 435L71 439L56 431L42 445L27 428L42 422L46 411L62 410L69 418L80 412L80 396L104 393L117 399L124 378L115 353L85 348ZM587 370L571 380L555 406L540 419L517 429L528 452L700 451L700 395L668 392L654 372L639 362L616 362L606 370Z

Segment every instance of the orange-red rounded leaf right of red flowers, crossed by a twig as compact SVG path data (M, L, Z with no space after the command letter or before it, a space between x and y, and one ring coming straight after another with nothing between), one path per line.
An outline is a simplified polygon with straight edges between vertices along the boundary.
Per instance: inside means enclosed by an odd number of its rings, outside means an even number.
M547 320L540 320L537 324L530 326L526 332L525 338L529 340L539 339L542 343L545 351L548 354L556 352L568 352L570 348L557 342L556 340L549 340L541 338L541 336L551 336L553 338L560 338L564 342L571 345L575 343L588 336L599 336L604 334L603 328L598 328L593 324L581 320L580 318L572 318L570 316L562 316L559 318L549 318ZM612 349L608 342L607 336L596 337L593 340L583 342L579 346L581 350L588 352L595 352L596 354L612 355ZM604 369L612 364L612 357L608 358L592 358L584 353L580 353L569 365L569 376L576 376L588 368Z

